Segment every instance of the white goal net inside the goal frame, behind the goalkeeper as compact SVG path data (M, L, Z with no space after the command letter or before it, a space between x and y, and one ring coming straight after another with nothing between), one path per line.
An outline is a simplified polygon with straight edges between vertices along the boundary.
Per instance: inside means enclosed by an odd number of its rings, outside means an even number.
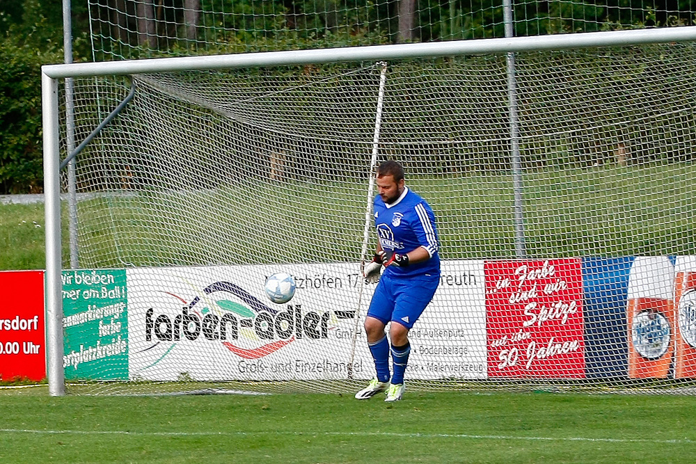
M443 259L409 390L690 392L695 63L691 42L521 52L516 119L505 54L76 78L77 141L135 96L74 161L68 392L365 385L386 159Z

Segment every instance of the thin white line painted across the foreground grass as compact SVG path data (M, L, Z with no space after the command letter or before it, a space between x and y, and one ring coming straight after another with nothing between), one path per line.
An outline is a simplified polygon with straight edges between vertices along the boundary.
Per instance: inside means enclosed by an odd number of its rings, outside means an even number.
M548 442L608 442L608 443L664 443L696 445L696 440L675 438L672 440L652 440L649 438L589 438L589 437L534 437L522 435L469 435L466 433L390 433L390 432L136 432L127 430L82 431L82 430L38 430L38 429L0 429L0 433L28 433L37 435L133 435L133 436L256 436L256 435L297 435L297 436L346 436L346 437L397 437L397 438L462 438L469 440L528 440Z

